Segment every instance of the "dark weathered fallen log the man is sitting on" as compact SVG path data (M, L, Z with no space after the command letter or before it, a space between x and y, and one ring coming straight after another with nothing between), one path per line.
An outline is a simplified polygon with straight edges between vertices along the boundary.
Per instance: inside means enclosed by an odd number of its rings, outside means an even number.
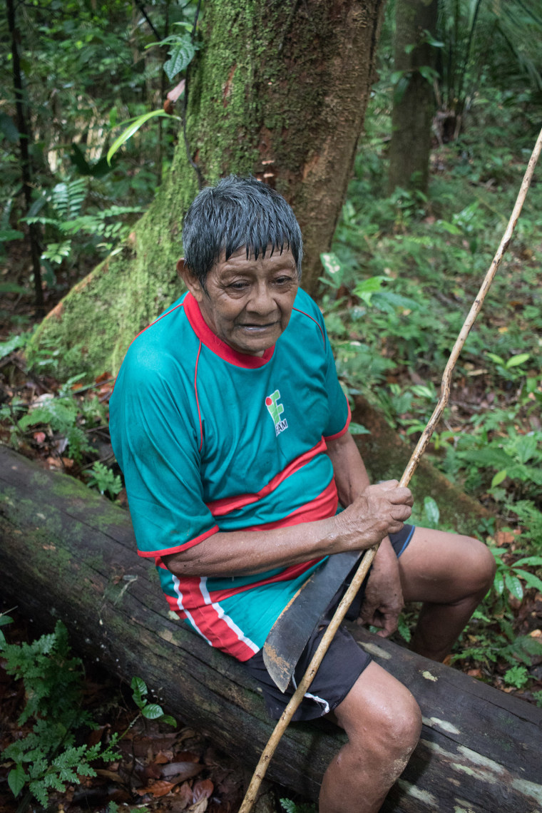
M168 615L126 511L0 447L0 541L2 596L37 632L62 619L74 650L126 680L140 676L169 713L254 767L273 728L258 689L239 664ZM421 741L383 811L542 810L542 711L355 626L353 633L423 711ZM326 721L294 724L268 776L315 799L344 740Z

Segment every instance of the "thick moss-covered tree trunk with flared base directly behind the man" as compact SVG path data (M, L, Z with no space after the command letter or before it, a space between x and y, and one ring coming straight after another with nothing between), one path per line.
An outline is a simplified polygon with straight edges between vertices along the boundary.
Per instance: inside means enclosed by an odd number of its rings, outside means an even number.
M180 294L181 220L206 183L253 173L293 206L303 285L321 273L371 86L384 0L209 0L189 69L185 146L123 250L82 280L33 348L63 350L61 375L116 372L132 338Z

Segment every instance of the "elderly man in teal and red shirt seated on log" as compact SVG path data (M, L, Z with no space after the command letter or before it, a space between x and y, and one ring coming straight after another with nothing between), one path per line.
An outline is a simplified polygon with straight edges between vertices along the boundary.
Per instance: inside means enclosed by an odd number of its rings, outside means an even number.
M289 695L263 667L267 633L327 556L384 540L362 620L388 635L403 602L423 602L414 650L444 659L491 584L492 556L475 539L405 525L409 489L369 484L322 315L299 288L293 211L267 185L231 176L199 193L183 242L188 293L132 343L111 399L138 549L171 609L245 663L278 717ZM319 810L378 811L420 712L344 629L297 719L324 714L348 742Z

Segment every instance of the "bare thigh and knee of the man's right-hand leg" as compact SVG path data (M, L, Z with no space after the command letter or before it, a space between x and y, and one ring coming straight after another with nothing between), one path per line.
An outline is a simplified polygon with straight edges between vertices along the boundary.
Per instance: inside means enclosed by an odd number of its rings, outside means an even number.
M494 561L478 539L415 528L398 559L405 602L460 601L487 584Z

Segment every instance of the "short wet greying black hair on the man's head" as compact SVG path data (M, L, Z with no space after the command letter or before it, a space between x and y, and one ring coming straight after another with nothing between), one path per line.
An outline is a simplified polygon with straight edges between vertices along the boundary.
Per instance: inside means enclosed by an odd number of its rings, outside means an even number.
M184 263L204 288L220 255L229 259L244 247L247 259L289 249L301 278L303 241L292 207L253 176L230 175L202 189L184 215L183 246Z

